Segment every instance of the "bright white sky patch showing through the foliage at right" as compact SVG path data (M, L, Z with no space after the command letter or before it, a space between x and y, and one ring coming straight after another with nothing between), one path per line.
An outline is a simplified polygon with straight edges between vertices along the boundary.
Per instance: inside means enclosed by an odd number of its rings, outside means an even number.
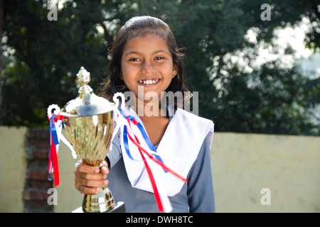
M257 42L257 37L260 35L259 28L252 27L247 30L245 39L252 44L254 48L244 48L235 50L235 52L227 53L223 56L225 64L231 68L236 65L242 72L250 73L254 69L259 69L267 62L277 60L277 67L285 69L292 68L294 65L301 65L303 71L316 72L312 77L320 77L320 50L306 48L305 38L306 33L316 25L310 23L308 18L302 18L302 21L293 26L285 28L275 28L272 43L265 43L264 40ZM293 54L287 54L286 49L290 47L294 50ZM213 65L218 62L219 57L213 60ZM227 75L228 70L221 70L220 74ZM216 74L213 70L213 76Z

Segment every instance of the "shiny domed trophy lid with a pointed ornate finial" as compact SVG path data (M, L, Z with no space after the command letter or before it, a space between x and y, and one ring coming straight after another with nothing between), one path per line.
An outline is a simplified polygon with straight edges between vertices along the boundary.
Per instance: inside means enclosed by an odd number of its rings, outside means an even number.
M114 104L92 92L92 88L87 85L90 80L90 72L81 67L77 74L77 82L81 86L78 97L68 101L61 110L61 115L68 117L93 116L113 110Z

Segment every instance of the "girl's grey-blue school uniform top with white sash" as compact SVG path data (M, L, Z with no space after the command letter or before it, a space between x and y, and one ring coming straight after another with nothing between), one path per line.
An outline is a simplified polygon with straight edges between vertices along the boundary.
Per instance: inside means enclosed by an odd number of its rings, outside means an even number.
M156 172L155 177L159 178L158 186L161 184L168 195L171 212L215 212L210 165L213 122L183 109L169 112L173 116L169 118L169 125L161 142L155 146L156 154L159 154L164 165L188 180L183 182L148 160L151 169ZM134 116L142 124L139 116L129 107L125 108L125 113ZM134 150L137 147L130 145L128 155L120 135L123 135L123 131L114 137L112 150L107 154L110 162L107 187L116 201L124 201L127 213L159 212L142 157Z

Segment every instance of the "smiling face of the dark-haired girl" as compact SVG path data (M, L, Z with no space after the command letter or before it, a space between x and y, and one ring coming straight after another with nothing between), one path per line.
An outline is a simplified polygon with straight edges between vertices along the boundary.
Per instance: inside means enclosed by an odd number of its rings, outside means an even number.
M127 88L144 101L160 100L161 92L169 87L178 72L166 40L146 34L129 40L122 53L122 74ZM138 87L140 91L138 96ZM149 92L149 93L147 93ZM143 95L143 97L142 97ZM157 97L156 97L156 96Z

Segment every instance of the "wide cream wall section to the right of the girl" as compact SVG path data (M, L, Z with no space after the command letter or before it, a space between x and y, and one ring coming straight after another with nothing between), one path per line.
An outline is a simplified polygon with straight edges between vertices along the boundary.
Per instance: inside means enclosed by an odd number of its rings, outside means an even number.
M215 133L211 155L217 212L320 211L319 137Z

